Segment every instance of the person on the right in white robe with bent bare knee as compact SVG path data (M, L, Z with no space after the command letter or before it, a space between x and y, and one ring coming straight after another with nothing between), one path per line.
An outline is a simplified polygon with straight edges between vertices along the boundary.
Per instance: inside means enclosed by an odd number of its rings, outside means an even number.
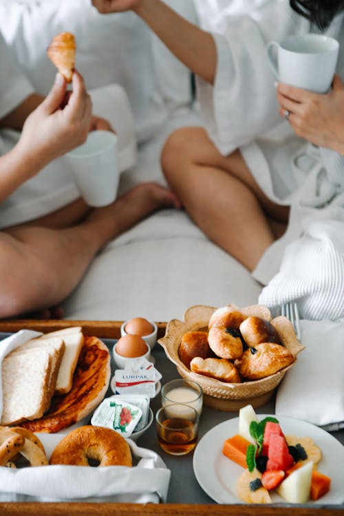
M166 179L206 235L267 283L301 219L344 203L341 157L300 138L279 116L266 56L269 41L320 29L287 0L255 1L241 12L226 10L225 1L195 3L202 28L160 0L93 0L99 12L136 12L195 73L204 127L167 140ZM340 43L342 21L338 12L324 31ZM343 58L341 50L339 74Z

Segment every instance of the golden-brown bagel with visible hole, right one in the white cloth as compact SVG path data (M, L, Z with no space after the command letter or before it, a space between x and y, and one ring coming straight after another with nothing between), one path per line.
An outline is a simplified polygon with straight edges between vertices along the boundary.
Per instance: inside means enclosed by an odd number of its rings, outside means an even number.
M132 466L129 444L114 430L87 425L67 434L54 448L50 464Z

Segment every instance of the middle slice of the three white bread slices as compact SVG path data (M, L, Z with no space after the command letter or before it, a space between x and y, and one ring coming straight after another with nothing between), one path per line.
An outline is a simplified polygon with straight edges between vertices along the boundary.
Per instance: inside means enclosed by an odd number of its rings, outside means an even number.
M49 382L49 393L50 397L52 397L56 389L58 371L60 370L61 361L65 352L65 342L63 339L61 337L32 338L30 341L17 347L12 351L12 353L18 354L28 352L29 350L37 349L39 347L45 348L52 357L52 372L50 374Z

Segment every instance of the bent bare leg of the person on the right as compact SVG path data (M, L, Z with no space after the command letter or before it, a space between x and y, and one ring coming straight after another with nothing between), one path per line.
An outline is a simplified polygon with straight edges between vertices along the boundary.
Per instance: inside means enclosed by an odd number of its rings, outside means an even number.
M253 270L275 240L270 217L284 224L288 208L268 200L239 151L224 157L204 129L189 127L167 140L162 168L195 223L215 244Z

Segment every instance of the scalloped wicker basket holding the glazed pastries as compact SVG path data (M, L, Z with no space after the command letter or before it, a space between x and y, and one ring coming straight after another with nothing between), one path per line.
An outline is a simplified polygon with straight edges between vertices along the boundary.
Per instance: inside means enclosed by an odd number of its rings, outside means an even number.
M230 306L234 307L234 305ZM224 411L237 411L248 403L254 408L261 407L272 397L277 385L279 385L283 376L294 363L282 371L261 380L226 383L191 372L178 356L182 335L194 330L207 330L208 321L215 310L216 308L211 306L192 306L184 313L184 321L179 321L178 319L169 321L164 337L160 338L158 342L164 348L169 359L176 365L180 376L194 380L201 385L206 405ZM297 340L292 323L286 317L279 316L271 319L270 310L261 305L252 305L246 308L238 308L237 310L247 316L258 316L270 321L275 326L283 345L286 346L295 358L304 349Z

